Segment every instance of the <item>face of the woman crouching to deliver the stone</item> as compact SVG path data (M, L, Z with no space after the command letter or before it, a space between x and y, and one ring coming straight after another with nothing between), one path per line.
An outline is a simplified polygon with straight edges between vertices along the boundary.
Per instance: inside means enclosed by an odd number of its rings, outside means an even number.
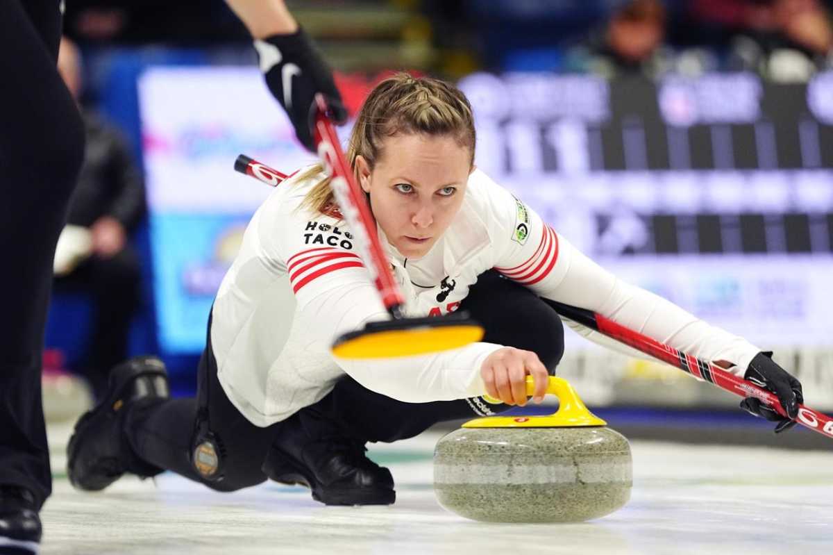
M460 210L471 150L450 135L385 138L376 165L356 158L359 183L387 240L407 258L421 258Z

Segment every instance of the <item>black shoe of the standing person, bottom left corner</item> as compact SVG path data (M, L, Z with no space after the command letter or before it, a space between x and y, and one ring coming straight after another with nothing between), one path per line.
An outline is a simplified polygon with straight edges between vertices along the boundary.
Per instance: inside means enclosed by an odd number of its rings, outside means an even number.
M41 534L41 519L32 493L17 486L0 486L0 554L37 553Z

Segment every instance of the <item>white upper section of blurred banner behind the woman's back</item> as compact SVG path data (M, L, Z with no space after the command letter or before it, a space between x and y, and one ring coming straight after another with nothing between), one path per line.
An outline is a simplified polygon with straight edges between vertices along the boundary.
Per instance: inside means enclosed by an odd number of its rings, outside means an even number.
M317 159L256 67L154 67L138 87L154 212L253 213L271 189L234 172L238 154L283 173Z

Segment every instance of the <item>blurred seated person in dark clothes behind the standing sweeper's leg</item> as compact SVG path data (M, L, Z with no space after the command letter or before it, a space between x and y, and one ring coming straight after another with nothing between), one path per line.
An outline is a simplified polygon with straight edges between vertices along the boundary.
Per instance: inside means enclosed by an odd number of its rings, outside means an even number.
M81 57L66 38L58 71L77 100ZM87 151L67 228L58 240L54 287L56 292L82 291L92 297L92 339L82 373L98 398L106 389L109 369L127 358L127 334L139 306L139 262L127 239L144 214L145 193L121 133L100 117L82 112Z

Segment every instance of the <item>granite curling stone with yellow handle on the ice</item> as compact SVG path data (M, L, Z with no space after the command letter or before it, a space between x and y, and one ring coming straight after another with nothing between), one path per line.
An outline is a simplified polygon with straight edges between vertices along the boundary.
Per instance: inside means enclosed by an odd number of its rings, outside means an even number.
M625 505L627 439L565 380L551 377L547 393L561 401L556 414L478 418L440 439L434 490L442 507L483 522L582 522Z

